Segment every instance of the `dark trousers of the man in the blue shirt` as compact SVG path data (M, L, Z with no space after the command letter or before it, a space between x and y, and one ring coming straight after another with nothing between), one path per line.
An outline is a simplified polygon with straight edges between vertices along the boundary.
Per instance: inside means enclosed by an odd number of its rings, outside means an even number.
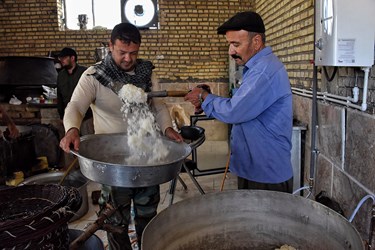
M275 183L275 184L249 181L242 177L238 177L238 189L260 189L260 190L293 193L293 177L287 181L284 181L281 183Z

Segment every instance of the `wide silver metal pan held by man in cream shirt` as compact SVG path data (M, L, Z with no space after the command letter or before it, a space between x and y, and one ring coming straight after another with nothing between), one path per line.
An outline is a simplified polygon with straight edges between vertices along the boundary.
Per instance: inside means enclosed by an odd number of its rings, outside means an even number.
M144 143L152 145L150 138ZM88 179L120 187L147 187L170 181L178 175L182 161L190 154L186 143L177 143L162 137L168 155L161 163L148 164L147 153L138 164L128 164L130 154L126 134L97 134L81 138L78 156L80 169Z

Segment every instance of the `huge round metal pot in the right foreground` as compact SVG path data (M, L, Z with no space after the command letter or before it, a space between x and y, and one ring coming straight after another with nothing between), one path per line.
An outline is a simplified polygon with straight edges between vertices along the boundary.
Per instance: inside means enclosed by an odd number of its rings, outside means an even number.
M143 250L364 249L357 230L315 201L287 193L233 190L178 202L146 226Z

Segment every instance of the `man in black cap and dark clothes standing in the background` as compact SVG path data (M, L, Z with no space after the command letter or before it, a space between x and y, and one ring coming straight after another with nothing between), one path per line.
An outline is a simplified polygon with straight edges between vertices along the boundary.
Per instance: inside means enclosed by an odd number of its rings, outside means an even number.
M61 71L57 76L57 110L60 119L62 120L65 113L65 108L70 102L73 91L77 86L82 73L87 67L77 63L77 52L69 47L65 47L58 55L61 63ZM88 109L81 125L81 135L93 134L94 128L92 125L92 111Z

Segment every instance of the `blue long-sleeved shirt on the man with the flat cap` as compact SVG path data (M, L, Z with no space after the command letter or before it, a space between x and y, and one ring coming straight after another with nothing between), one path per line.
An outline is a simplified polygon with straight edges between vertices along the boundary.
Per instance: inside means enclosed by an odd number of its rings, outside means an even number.
M284 65L266 47L245 65L242 84L232 98L208 95L208 117L233 124L230 171L261 183L281 183L293 176L292 92Z

